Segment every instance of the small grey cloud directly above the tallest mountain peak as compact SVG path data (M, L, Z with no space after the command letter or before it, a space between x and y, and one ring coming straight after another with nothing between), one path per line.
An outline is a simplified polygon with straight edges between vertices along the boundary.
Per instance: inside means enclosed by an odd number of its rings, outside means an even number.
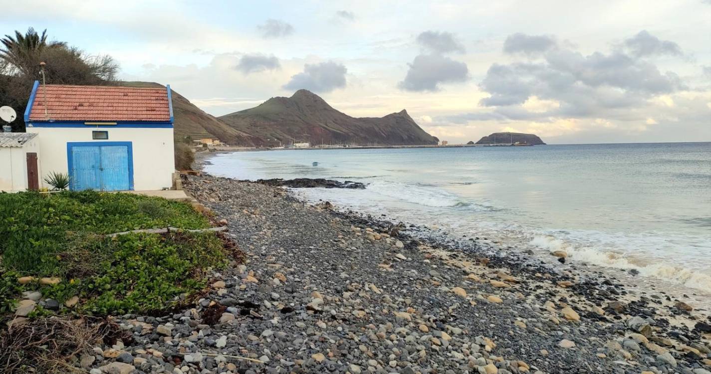
M346 66L328 61L326 63L306 64L304 72L293 75L284 85L287 90L305 88L313 92L331 92L336 88L346 87Z

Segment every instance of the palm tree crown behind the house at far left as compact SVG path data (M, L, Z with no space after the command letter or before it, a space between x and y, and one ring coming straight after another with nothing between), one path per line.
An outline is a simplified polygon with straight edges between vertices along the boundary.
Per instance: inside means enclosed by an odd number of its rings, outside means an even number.
M34 28L26 33L15 31L15 36L6 35L0 39L0 58L6 61L9 69L21 75L34 77L39 71L40 56L46 48L66 47L67 43L47 41L47 30L38 34Z

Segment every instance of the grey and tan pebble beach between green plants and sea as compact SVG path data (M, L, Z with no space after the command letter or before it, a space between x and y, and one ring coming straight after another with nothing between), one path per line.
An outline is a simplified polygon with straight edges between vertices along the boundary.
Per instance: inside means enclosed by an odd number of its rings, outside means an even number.
M682 295L629 292L282 187L183 184L245 261L214 272L191 308L117 318L132 342L82 356L92 373L710 373L711 321Z

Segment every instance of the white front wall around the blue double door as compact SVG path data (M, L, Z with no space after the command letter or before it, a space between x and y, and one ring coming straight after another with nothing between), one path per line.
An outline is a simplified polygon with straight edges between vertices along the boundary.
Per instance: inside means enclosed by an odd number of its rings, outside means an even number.
M107 131L109 139L93 140L92 131ZM160 190L173 186L175 171L173 129L130 129L125 127L27 127L40 139L40 183L46 173L68 173L67 143L70 141L131 141L134 190Z

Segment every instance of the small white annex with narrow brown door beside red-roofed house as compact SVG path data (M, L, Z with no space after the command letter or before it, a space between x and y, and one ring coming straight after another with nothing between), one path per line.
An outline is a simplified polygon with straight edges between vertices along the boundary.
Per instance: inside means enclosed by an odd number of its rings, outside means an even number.
M37 134L0 132L0 191L39 187Z

